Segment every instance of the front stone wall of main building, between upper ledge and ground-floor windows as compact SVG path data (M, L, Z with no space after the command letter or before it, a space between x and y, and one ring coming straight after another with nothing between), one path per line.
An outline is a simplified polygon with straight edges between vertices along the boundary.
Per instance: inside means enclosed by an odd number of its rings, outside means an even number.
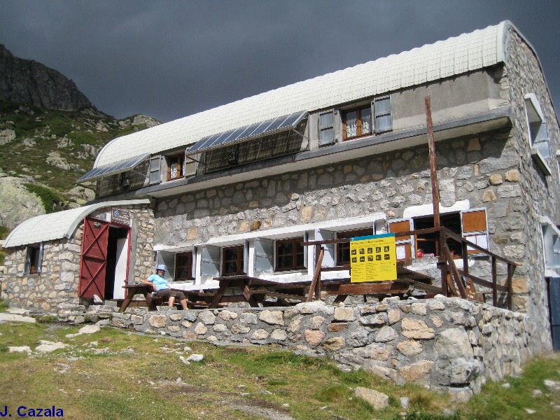
M486 208L490 250L517 260L528 236L514 144L511 130L504 129L440 141L436 149L442 205L469 200L471 208ZM193 245L380 211L389 220L402 218L407 207L431 203L428 146L417 146L160 200L154 241ZM490 270L488 261L478 259L471 273L491 279ZM505 267L500 270L503 279ZM522 270L516 274L515 291L523 293Z

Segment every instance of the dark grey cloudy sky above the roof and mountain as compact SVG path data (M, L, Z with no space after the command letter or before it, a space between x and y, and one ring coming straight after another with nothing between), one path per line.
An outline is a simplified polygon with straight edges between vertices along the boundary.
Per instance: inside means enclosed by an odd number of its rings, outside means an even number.
M560 0L1 0L0 43L162 122L511 20L560 104Z

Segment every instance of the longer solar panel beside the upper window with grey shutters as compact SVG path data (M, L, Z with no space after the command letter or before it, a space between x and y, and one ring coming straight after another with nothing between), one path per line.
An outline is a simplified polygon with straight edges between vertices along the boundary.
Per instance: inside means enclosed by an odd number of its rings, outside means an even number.
M212 134L209 137L204 137L204 139L197 141L195 145L188 150L188 154L200 153L219 146L239 143L240 141L245 141L253 137L289 130L300 123L305 116L307 116L307 111L298 111L290 113L287 116L272 118L271 120L262 121L261 123L239 127L236 130Z

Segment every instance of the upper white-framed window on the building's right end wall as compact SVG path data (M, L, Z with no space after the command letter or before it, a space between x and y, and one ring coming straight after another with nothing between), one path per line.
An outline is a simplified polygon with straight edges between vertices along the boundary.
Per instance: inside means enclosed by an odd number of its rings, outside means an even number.
M546 161L546 159L551 158L552 154L550 151L548 127L540 103L534 93L525 95L525 116L528 142L531 147L531 157L542 174L550 176L552 175L552 171ZM535 132L535 130L537 132ZM545 134L542 134L543 132L545 132ZM537 141L539 135L545 137L545 139Z

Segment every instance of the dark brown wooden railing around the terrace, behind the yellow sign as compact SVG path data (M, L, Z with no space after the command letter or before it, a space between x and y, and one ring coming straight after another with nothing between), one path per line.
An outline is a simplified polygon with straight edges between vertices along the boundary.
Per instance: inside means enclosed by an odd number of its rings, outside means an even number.
M416 236L425 235L429 233L438 233L439 240L437 248L439 248L440 253L438 255L438 266L441 271L442 276L442 286L441 293L445 296L460 296L463 299L475 300L477 296L473 295L473 287L470 284L474 283L479 286L484 286L486 288L491 288L492 290L492 304L493 306L498 306L498 292L503 292L506 295L505 306L507 309L512 309L512 278L515 268L521 265L520 262L514 262L503 258L500 255L489 251L488 249L482 248L477 244L473 244L467 241L460 235L447 228L430 228L430 229L419 229L410 230L407 232L395 232L398 236ZM461 244L461 257L458 259L463 260L463 269L458 269L455 264L456 256L451 254L449 251L449 246L447 246L447 241L452 240L459 242ZM306 241L302 242L304 246L314 246L315 248L315 270L313 279L311 281L311 287L309 288L309 295L307 296L307 302L314 299L319 299L321 293L321 272L332 272L340 270L350 270L350 265L338 266L338 267L323 267L323 258L325 255L325 250L323 245L326 244L343 244L348 243L350 238L341 239L328 239L323 241ZM477 250L477 258L481 260L490 260L491 262L491 280L484 280L477 276L470 274L469 269L469 254L468 248ZM413 251L414 252L414 251ZM505 284L501 285L498 283L498 262L505 263L507 265L507 275L505 278ZM398 262L401 265L412 265L412 260L403 260Z

